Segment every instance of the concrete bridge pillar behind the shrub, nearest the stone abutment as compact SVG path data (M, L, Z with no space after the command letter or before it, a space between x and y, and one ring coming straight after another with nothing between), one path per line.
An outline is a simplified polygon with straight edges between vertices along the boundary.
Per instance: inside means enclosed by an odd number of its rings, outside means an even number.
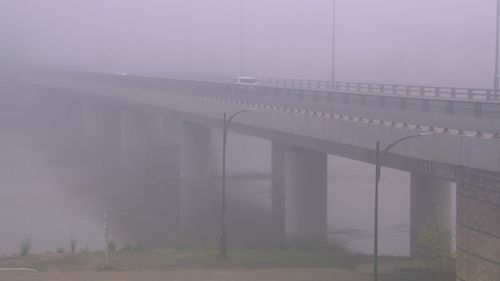
M429 255L418 243L425 229L443 235L442 247L451 249L452 183L431 175L411 173L410 249L412 256ZM425 228L424 228L425 227Z

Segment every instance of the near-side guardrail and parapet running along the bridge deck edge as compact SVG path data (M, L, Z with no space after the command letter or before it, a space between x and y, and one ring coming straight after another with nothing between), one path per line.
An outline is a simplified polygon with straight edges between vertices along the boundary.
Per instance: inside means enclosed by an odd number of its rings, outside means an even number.
M326 91L273 86L245 86L223 81L118 76L97 73L56 73L56 77L104 83L114 89L193 93L237 98L281 107L343 114L422 126L500 133L500 101Z

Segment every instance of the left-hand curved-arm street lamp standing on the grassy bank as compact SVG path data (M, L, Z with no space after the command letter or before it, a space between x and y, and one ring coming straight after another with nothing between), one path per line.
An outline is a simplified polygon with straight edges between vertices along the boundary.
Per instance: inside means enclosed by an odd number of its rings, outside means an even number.
M223 114L222 123L222 213L221 213L221 234L220 234L220 244L219 244L219 256L221 258L227 258L227 239L226 239L226 144L227 144L227 131L229 125L236 115L254 111L255 108L245 108L236 111L229 118L226 118L226 113Z

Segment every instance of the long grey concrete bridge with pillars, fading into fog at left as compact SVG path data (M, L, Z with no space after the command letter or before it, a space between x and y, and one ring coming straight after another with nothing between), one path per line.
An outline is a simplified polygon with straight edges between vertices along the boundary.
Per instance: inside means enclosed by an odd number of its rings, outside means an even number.
M19 79L81 99L84 137L112 147L116 137L110 134L119 131L128 136L118 141L119 149L133 148L127 157L156 155L161 165L161 154L155 151L165 139L158 132L165 126L177 130L183 237L196 236L203 227L200 216L213 212L213 206L203 203L214 196L205 186L214 161L209 135L221 128L223 112L257 109L239 116L231 130L272 142L273 232L286 243L326 239L328 154L374 163L376 141L385 145L433 132L401 143L384 162L411 173L412 244L419 229L435 216L450 227L450 186L455 182L458 280L493 281L500 276L500 102L489 90L428 91L429 87L363 83L353 89L351 84L297 86L268 80L241 86L222 78L77 72L26 73ZM142 117L133 112L142 112ZM122 155L121 161L126 163L127 157ZM108 170L113 166L97 164Z

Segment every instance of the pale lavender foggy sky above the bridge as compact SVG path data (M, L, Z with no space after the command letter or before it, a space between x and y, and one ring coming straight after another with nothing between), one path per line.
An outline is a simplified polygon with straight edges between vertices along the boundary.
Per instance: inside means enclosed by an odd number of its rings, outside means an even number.
M332 0L241 1L245 74L329 79ZM235 76L240 4L0 0L0 60L151 76ZM336 79L491 87L495 16L495 0L336 0Z

